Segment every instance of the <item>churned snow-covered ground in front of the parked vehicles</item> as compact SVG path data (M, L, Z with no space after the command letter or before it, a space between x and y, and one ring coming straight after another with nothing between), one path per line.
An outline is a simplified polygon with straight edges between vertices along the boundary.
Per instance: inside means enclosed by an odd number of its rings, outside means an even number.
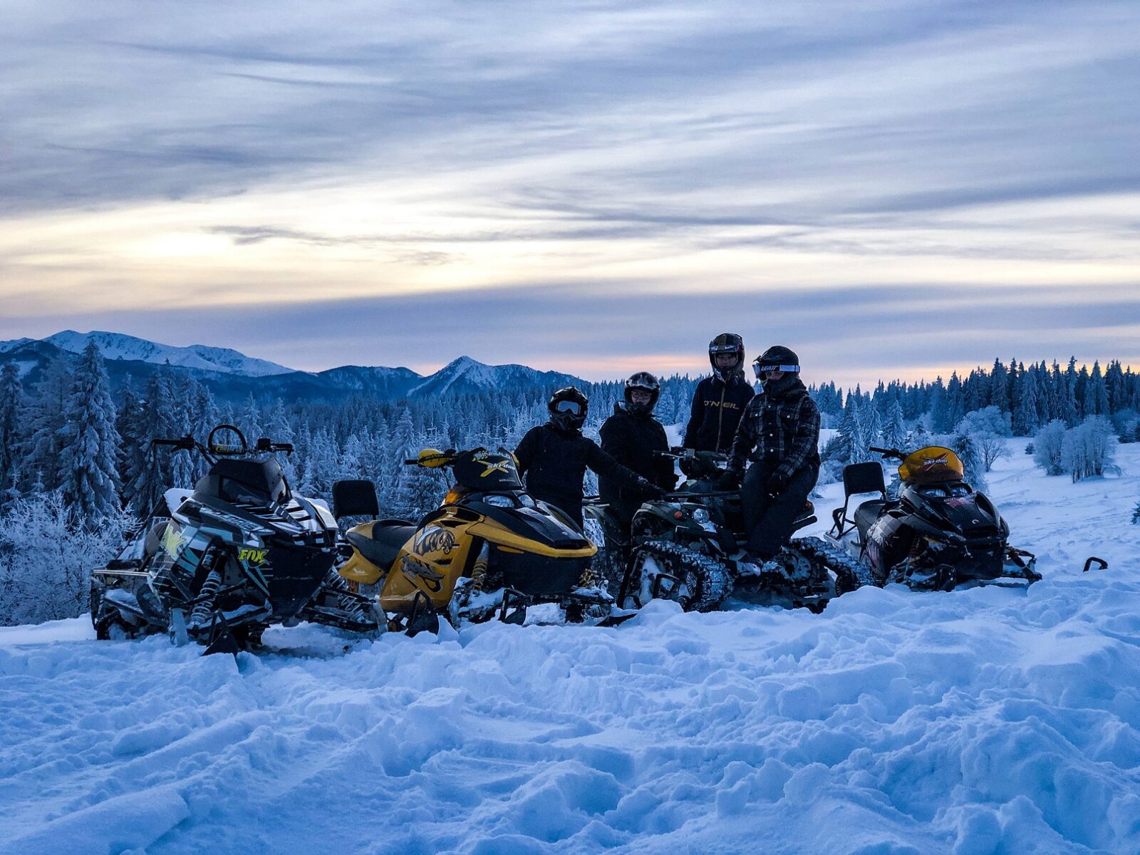
M0 629L0 852L1140 853L1140 447L1073 484L1024 446L991 495L1027 593L298 627L236 662Z

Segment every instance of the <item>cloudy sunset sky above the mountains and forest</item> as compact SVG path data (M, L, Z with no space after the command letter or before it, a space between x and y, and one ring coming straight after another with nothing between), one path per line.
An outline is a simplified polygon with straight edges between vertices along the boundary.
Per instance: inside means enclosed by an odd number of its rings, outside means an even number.
M9 0L0 339L1140 366L1140 5Z

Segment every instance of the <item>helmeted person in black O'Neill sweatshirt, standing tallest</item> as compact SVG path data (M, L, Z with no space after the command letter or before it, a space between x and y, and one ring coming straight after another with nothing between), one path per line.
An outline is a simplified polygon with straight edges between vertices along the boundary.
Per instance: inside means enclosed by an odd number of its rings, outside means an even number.
M744 407L755 392L744 380L744 340L720 333L709 342L712 375L697 384L682 446L698 451L727 451Z

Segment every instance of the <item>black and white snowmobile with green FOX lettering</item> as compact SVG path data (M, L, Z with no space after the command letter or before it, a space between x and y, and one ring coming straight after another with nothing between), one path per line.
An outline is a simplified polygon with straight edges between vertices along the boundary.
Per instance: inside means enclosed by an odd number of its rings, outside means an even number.
M165 632L206 653L234 653L256 646L270 624L375 629L370 603L333 572L333 515L294 495L274 456L292 446L262 438L251 449L228 424L205 445L193 435L152 441L162 446L197 451L210 470L193 490L166 490L119 556L91 571L99 638Z

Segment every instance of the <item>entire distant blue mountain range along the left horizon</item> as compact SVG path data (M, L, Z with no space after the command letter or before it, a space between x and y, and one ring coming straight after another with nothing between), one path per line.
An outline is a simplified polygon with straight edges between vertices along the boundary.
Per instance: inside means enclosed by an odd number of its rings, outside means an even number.
M279 397L287 401L337 400L352 394L399 400L585 383L569 374L540 372L524 365L484 365L465 356L426 376L410 368L359 365L300 372L229 348L203 344L179 348L121 333L76 333L72 329L46 339L2 341L0 365L14 363L24 386L30 388L49 361L58 357L75 359L89 342L95 342L106 359L114 389L128 378L140 389L160 366L169 365L172 372L189 374L205 383L222 400L243 399L251 393L256 398Z

